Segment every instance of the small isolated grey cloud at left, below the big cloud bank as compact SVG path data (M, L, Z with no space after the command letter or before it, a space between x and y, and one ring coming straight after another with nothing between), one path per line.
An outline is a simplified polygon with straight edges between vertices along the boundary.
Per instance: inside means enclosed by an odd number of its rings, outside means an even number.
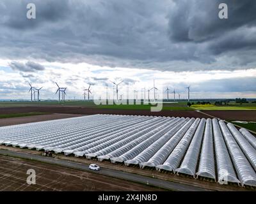
M19 71L24 71L24 72L35 72L35 71L42 71L44 70L44 66L42 66L41 64L38 64L36 62L31 62L28 61L26 62L26 64L22 63L22 62L10 62L10 67L13 70L19 70Z

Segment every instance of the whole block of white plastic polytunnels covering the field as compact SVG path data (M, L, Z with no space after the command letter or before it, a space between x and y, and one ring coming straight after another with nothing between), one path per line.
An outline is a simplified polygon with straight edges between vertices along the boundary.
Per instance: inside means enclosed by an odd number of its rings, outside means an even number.
M217 119L88 115L0 128L0 144L256 186L256 138Z

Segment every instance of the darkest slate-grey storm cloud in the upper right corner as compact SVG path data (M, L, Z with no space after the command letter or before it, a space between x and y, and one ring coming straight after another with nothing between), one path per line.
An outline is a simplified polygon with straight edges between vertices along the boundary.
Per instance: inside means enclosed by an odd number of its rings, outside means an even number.
M228 19L218 17L220 3L227 3ZM168 15L168 34L173 42L205 43L202 51L213 55L255 50L255 10L256 2L250 0L175 1Z

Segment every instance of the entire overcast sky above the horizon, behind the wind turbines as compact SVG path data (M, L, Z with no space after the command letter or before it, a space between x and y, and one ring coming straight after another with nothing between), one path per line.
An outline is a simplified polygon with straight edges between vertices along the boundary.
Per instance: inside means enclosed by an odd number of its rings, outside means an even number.
M57 99L54 82L83 98L88 83L99 95L125 80L125 95L154 79L180 98L188 85L191 98L256 98L255 10L252 0L1 0L0 99L29 99L27 82Z

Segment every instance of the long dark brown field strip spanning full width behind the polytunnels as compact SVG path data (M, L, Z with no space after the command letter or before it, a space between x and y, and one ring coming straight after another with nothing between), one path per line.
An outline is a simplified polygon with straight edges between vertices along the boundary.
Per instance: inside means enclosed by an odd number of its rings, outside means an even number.
M204 111L196 112L195 110L163 110L161 112L150 112L149 110L118 110L118 109L103 109L89 108L85 106L22 106L22 107L3 107L0 108L0 114L10 113L28 113L28 112L45 112L45 113L66 113L79 115L92 114L120 114L120 115L159 115L173 117L209 117L204 113L219 117L225 120L250 120L256 121L256 111L252 110L221 110L221 111Z

